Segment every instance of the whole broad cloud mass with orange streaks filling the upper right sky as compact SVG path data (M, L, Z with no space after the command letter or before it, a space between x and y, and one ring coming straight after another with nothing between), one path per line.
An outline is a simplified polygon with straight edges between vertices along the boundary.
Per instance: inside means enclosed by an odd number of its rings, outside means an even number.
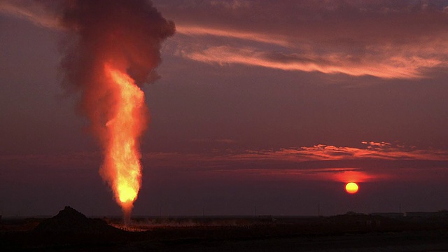
M447 67L447 1L232 3L160 3L178 27L173 53L223 66L379 78L425 78Z

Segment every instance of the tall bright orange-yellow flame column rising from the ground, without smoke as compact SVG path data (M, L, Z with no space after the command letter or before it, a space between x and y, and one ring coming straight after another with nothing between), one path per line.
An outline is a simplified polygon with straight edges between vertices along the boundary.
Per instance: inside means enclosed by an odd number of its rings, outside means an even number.
M144 92L127 73L111 65L104 70L116 100L106 123L102 176L115 193L125 221L129 221L141 185L139 137L146 128Z

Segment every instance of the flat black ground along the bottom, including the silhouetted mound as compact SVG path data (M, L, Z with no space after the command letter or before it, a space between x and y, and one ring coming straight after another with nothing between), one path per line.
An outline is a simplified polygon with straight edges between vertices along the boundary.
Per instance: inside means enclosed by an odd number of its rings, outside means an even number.
M136 218L133 231L113 226L120 221L70 207L47 219L3 219L0 251L448 251L447 218Z

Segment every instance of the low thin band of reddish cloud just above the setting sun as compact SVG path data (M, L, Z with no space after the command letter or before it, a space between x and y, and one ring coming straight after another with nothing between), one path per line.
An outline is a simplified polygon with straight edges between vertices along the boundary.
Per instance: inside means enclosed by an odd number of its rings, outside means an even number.
M227 139L223 143L228 145ZM208 140L207 140L208 141ZM398 143L363 141L362 147L317 144L279 150L224 148L209 153L144 153L142 165L150 174L239 179L375 181L448 176L448 151ZM27 167L86 167L100 165L99 153L64 155L3 155L0 165ZM70 168L70 169L71 169ZM437 179L437 178L428 179Z

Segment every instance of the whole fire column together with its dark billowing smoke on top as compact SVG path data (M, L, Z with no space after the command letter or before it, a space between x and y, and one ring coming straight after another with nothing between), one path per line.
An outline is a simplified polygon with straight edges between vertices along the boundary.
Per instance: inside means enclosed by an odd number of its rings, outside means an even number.
M81 94L80 111L104 152L100 174L129 218L141 184L139 139L149 118L139 86L158 78L160 46L174 34L174 22L146 0L56 4L69 34L61 62L65 87Z

